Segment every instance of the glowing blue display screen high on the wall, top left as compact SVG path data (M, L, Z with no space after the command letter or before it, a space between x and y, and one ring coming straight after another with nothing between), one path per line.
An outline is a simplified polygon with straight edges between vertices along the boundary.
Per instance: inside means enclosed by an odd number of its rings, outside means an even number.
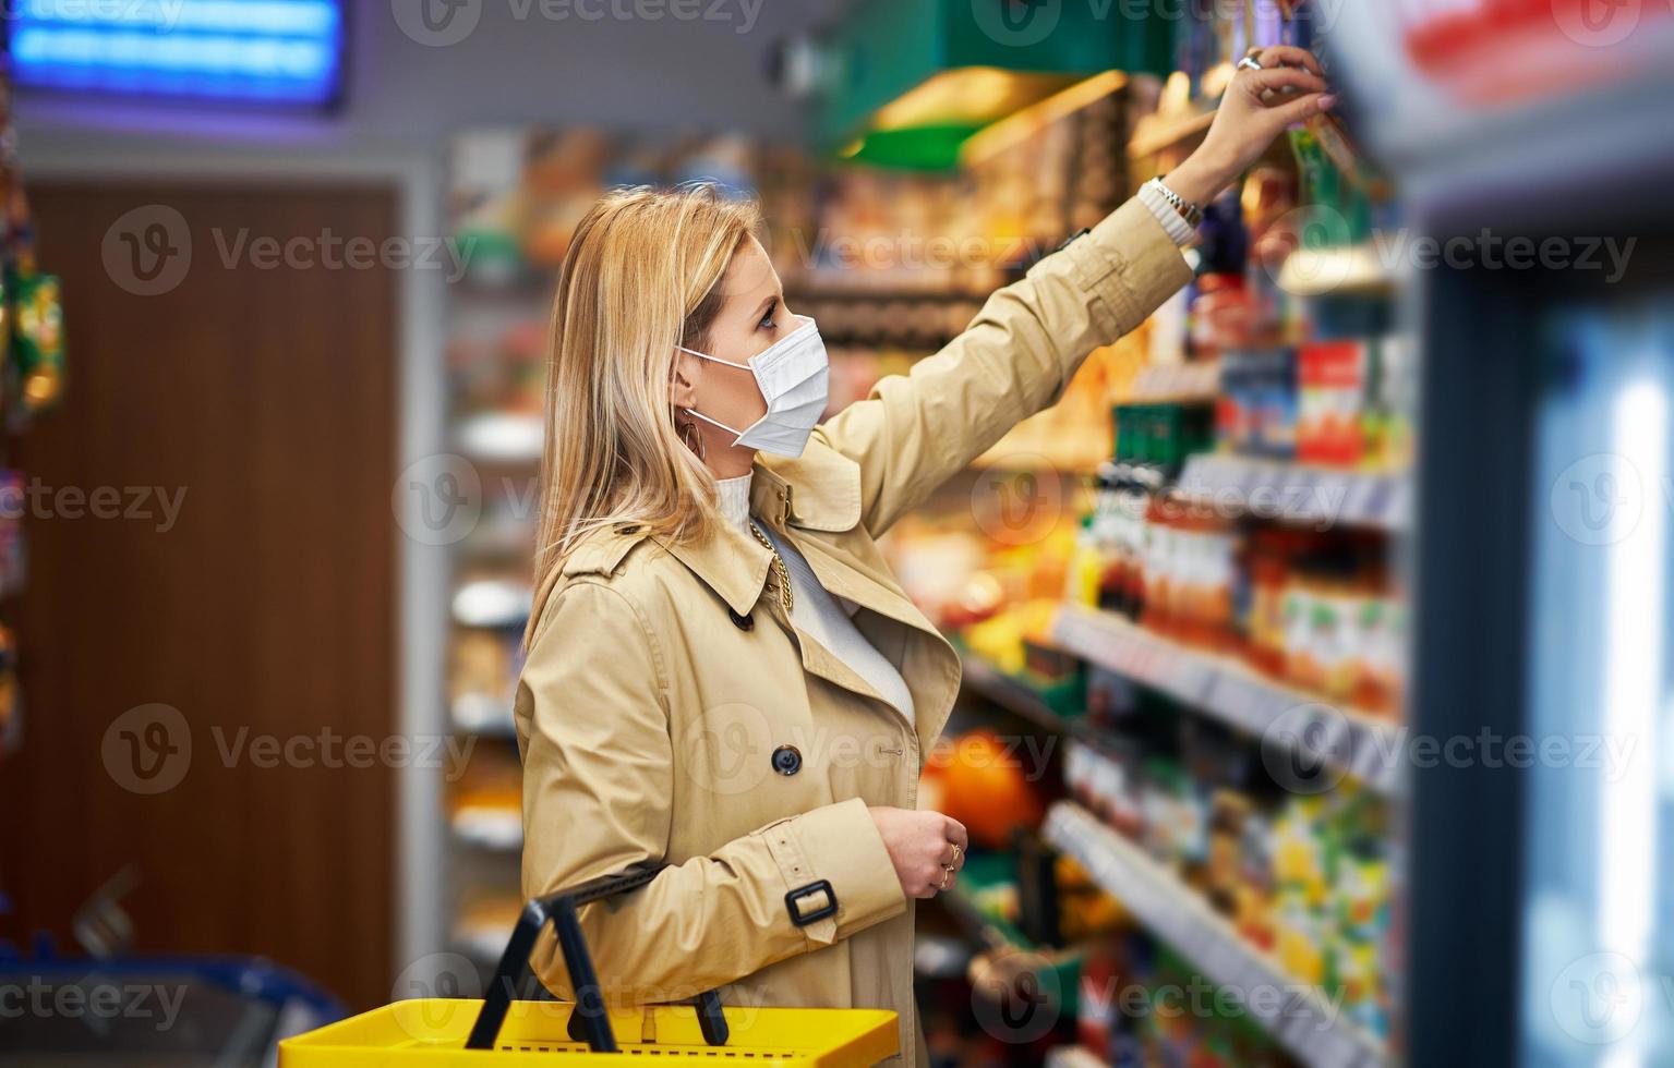
M341 0L12 0L18 85L323 105L343 77Z

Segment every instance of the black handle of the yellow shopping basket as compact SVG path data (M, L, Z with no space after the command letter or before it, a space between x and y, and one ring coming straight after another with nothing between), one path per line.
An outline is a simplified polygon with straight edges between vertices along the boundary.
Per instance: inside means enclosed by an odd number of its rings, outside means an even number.
M581 936L581 922L576 909L589 901L599 901L613 894L636 891L663 869L661 864L636 867L616 875L599 875L586 882L554 891L546 897L536 897L524 906L512 929L506 952L494 969L494 983L489 984L482 999L482 1011L465 1040L467 1050L492 1050L499 1040L501 1024L511 1009L512 991L521 989L529 976L529 954L547 921L557 929L557 946L564 954L564 969L569 973L569 984L576 991L576 1008L569 1013L571 1041L584 1041L594 1053L616 1053L616 1036L611 1035L611 1021L604 1011L604 993L599 989L599 978L593 971L593 954ZM698 1026L703 1029L703 1041L711 1046L727 1045L727 1016L721 1013L721 999L715 991L698 994Z

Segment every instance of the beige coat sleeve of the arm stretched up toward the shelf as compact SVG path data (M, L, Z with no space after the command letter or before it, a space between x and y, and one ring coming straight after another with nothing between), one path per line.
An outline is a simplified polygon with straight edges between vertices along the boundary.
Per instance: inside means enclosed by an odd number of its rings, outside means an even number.
M1138 326L1190 278L1152 209L1130 199L994 293L946 348L817 430L860 465L860 522L882 534L1055 403L1091 350Z

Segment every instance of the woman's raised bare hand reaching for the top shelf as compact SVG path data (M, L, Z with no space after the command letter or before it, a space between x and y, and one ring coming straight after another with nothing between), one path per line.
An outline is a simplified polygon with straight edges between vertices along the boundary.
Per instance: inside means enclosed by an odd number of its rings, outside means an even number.
M1331 110L1319 59L1307 49L1272 45L1256 55L1261 70L1232 75L1204 144L1162 179L1194 204L1207 204L1262 157L1294 122Z

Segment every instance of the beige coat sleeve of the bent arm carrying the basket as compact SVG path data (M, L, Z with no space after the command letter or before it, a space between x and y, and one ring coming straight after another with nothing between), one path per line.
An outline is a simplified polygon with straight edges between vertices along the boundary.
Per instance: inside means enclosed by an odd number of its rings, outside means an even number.
M524 897L666 859L673 817L666 650L604 583L556 594L519 683ZM825 879L837 914L795 926L785 894ZM802 906L815 911L815 894ZM733 983L906 911L860 798L814 809L665 869L581 912L606 999L660 1003ZM571 996L547 932L534 968Z

